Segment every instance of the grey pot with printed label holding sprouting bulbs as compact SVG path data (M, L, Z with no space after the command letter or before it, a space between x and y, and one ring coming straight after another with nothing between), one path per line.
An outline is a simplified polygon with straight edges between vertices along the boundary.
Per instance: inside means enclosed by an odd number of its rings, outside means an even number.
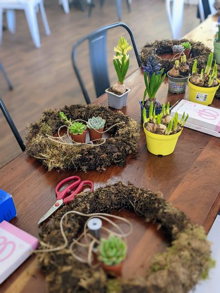
M181 94L186 90L186 84L190 77L190 68L186 63L186 55L184 54L178 60L175 61L174 67L167 72L169 87L168 90L171 93Z

